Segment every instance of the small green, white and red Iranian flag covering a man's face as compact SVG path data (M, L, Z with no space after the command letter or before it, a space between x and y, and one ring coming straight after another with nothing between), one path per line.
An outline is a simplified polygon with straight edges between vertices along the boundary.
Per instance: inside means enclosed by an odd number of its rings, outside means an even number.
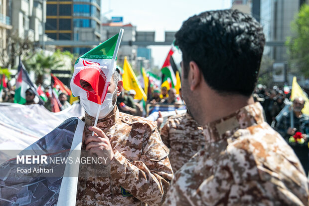
M74 96L87 99L94 104L102 104L107 93L108 84L116 70L116 56L122 33L123 29L119 34L91 49L76 60L71 79L71 90ZM81 83L89 83L92 89L84 89Z

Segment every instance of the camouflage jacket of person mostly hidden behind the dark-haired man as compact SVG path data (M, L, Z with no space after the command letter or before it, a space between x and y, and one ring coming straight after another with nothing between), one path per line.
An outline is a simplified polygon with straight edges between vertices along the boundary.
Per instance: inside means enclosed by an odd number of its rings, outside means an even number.
M203 128L189 113L167 119L160 134L163 143L169 148L168 159L173 172L179 170L205 145Z

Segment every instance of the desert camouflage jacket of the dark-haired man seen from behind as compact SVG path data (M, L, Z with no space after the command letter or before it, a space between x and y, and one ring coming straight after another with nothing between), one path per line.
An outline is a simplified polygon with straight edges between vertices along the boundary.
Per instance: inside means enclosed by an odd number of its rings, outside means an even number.
M203 128L205 149L175 174L166 206L309 205L304 170L260 103Z

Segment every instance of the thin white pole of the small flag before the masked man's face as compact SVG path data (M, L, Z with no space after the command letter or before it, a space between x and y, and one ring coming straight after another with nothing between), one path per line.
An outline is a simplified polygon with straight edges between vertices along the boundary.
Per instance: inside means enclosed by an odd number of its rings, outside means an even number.
M110 64L110 68L114 68L114 64L115 64L115 62L116 62L116 57L117 57L117 53L118 53L118 50L119 50L119 46L120 46L120 42L121 42L123 33L124 33L124 29L121 28L121 29L120 29L120 32L119 32L118 39L117 39L117 43L116 43L114 55L113 55L113 58L112 58L112 61L111 61L111 64ZM107 77L110 77L112 72L114 72L114 69L109 69L106 76L107 76ZM113 73L112 73L112 74L113 74ZM110 79L110 80L111 80L111 79ZM97 126L99 114L100 114L100 111L101 111L102 97L105 97L105 95L106 95L106 92L107 92L107 89L106 89L106 88L108 87L108 84L109 84L109 82L108 82L108 81L105 81L105 85L104 85L104 88L103 88L103 93L102 93L102 96L101 96L101 104L100 104L100 106L99 106L99 108L98 108L96 120L95 120L95 122L94 122L94 126L95 126L95 127ZM92 135L94 135L94 132L92 132Z

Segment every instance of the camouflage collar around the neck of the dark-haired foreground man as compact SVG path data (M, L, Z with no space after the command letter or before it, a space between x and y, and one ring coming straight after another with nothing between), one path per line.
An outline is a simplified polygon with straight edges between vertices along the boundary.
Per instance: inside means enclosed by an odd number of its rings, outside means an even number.
M257 102L247 105L234 113L219 120L204 125L204 137L206 142L217 142L231 137L239 129L263 123L263 107Z

